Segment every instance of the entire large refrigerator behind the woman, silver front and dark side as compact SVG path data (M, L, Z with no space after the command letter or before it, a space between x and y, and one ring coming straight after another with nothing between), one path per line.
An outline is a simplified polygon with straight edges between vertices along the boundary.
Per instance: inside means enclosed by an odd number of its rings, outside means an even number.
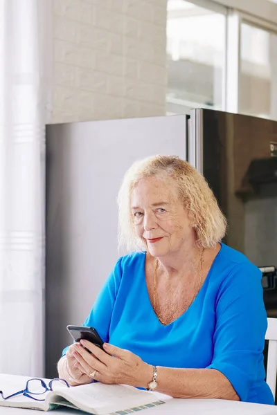
M271 162L277 159L271 142L277 142L277 122L206 109L190 116L47 126L47 377L56 376L57 360L71 342L66 325L82 324L124 254L117 249L116 195L134 160L154 154L188 160L204 174L227 216L226 243L258 266L276 264Z

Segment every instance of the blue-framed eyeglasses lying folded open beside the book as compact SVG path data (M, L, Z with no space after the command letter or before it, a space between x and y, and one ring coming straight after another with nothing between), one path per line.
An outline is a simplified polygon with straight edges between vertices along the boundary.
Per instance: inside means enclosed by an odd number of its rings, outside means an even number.
M14 396L17 396L20 394L23 394L24 396L28 396L28 398L32 398L34 400L45 400L45 398L39 399L31 395L42 395L42 394L45 394L46 391L55 391L55 389L57 389L57 387L60 387L61 385L70 387L69 384L66 382L66 380L61 379L61 378L55 378L55 379L50 380L50 382L48 383L48 386L46 385L44 380L39 379L39 378L32 378L32 379L27 380L26 387L22 391L15 392L15 394L6 396L6 398L5 396L3 396L3 391L0 391L0 395L4 400L13 398Z

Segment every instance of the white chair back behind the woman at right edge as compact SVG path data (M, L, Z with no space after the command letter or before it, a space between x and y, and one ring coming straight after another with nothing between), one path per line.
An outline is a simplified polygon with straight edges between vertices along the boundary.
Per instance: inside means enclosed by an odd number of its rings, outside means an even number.
M267 385L275 399L277 377L277 318L267 318L267 333L265 340L269 340L267 354Z

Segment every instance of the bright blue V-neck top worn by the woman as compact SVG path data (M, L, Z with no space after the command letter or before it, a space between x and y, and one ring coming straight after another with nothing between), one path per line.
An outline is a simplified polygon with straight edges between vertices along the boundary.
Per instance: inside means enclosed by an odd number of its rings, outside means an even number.
M222 243L194 302L164 326L150 302L145 257L118 259L84 326L150 365L217 369L240 400L274 405L262 355L267 315L260 270Z

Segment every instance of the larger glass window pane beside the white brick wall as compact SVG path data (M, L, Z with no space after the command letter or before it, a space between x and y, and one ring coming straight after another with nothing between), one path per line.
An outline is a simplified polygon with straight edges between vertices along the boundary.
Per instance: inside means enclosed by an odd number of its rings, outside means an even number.
M225 15L190 1L168 0L168 111L224 109L225 42Z

